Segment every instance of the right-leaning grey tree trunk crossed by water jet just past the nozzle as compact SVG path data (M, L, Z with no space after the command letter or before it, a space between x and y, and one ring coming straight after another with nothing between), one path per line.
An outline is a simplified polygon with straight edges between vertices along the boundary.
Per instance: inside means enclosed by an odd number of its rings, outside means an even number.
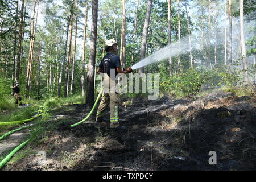
M143 34L142 34L141 60L143 60L146 57L147 34L148 34L148 27L150 23L151 8L152 8L152 0L148 0L146 18L145 18ZM139 73L144 73L144 67L139 68Z

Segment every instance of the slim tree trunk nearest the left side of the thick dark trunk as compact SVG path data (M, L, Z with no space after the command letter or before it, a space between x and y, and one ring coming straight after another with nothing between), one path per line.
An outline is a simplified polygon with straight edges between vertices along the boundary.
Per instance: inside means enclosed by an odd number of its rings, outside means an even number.
M85 96L84 88L85 88L85 49L86 49L86 30L87 30L87 19L88 19L88 2L86 1L86 12L84 19L84 40L82 42L82 77L81 77L81 88L82 88L82 96Z

